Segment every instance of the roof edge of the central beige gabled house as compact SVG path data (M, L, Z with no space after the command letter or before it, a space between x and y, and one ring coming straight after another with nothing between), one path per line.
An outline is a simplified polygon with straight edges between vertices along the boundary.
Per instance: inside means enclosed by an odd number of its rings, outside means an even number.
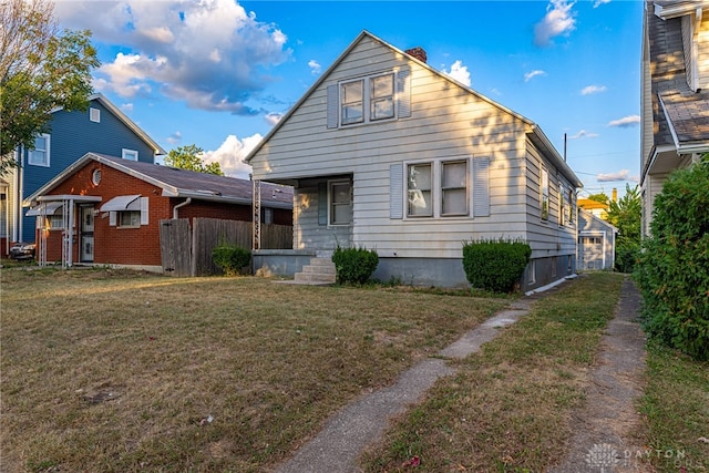
M493 106L496 106L497 109L502 110L505 113L508 113L510 115L516 117L517 120L524 122L527 125L527 133L530 134L530 138L532 140L532 142L538 146L541 150L544 151L544 154L549 156L552 158L552 161L554 162L553 164L562 172L562 174L572 183L572 185L574 185L575 187L583 187L583 183L580 182L580 179L576 176L576 174L572 171L572 168L568 166L568 164L566 164L566 162L564 161L564 158L558 154L558 152L556 151L556 148L554 147L554 145L552 145L552 143L549 142L549 140L546 137L546 135L544 134L544 132L542 131L542 128L540 128L540 126L532 122L531 120L520 115L516 112L513 112L512 110L505 107L504 105L486 97L485 95L480 94L479 92L475 92L474 90L472 90L471 88L458 82L455 79L433 69L432 66L430 66L428 63L421 61L419 58L417 58L415 55L409 54L391 44L389 44L388 42L381 40L380 38L376 37L374 34L370 33L367 30L363 30L351 43L350 45L337 58L337 60L335 60L335 62L328 68L328 70L320 75L320 78L312 84L312 86L310 86L310 89L300 97L300 100L278 121L278 123L270 130L270 132L254 147L254 150L251 150L251 152L246 156L246 158L244 160L245 163L249 163L251 161L251 158L258 153L258 151L264 146L264 144L266 144L268 142L268 140L280 128L280 126L286 123L286 121L290 117L290 115L292 115L295 113L296 110L298 110L298 107L300 107L300 105L315 92L316 89L318 89L318 86L325 82L328 76L330 75L330 73L338 66L338 64L340 62L342 62L348 55L349 53L354 49L354 47L363 39L363 38L370 38L379 43L381 43L382 45L393 50L394 52L402 54L403 56L410 59L411 61L417 62L420 66L428 69L429 71L431 71L432 73L436 74L438 76L440 76L441 79L449 81L453 84L455 84L456 86L464 89L466 92L475 95L477 99L483 100L490 104L492 104Z

